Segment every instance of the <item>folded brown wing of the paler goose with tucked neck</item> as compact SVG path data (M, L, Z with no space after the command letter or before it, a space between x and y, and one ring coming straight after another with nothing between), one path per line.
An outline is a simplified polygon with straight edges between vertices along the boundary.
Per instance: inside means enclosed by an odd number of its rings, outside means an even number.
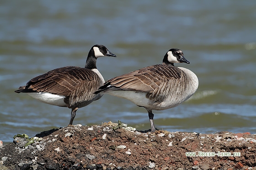
M114 77L106 82L116 90L153 93L162 83L179 79L182 71L173 66L158 64Z

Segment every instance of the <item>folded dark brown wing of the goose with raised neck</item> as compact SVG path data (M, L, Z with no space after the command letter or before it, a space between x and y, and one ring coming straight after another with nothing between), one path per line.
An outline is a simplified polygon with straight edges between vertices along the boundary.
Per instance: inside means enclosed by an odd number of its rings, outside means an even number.
M69 96L94 81L100 81L95 72L81 67L61 67L32 78L25 87L26 92L48 92ZM95 87L96 88L96 87ZM91 89L89 89L90 91Z

